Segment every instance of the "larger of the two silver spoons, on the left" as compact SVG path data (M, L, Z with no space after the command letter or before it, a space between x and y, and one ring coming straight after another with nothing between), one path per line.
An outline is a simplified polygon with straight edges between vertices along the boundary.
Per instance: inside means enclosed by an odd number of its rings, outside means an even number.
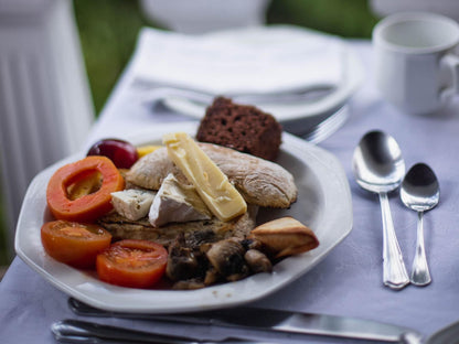
M383 282L392 289L409 283L408 273L392 221L387 193L402 183L405 161L395 139L382 131L370 131L355 148L352 168L357 184L380 195L383 217Z

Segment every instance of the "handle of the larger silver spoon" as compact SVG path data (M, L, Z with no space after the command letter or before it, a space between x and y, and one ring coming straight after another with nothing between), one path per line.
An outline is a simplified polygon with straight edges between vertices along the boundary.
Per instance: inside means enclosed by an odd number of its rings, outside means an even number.
M409 283L409 278L395 235L391 207L385 192L380 193L380 202L383 216L383 281L385 286L392 289L402 289Z

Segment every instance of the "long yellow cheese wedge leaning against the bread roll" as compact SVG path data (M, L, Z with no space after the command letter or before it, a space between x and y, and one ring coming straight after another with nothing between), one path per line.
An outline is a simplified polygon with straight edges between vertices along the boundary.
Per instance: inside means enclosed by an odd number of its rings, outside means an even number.
M247 211L247 204L227 176L185 132L164 135L169 158L196 187L218 219L226 222Z

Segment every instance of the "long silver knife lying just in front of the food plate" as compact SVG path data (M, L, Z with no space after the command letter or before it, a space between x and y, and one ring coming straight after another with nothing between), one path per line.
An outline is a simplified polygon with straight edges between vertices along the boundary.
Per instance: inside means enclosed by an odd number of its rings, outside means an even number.
M414 330L372 320L271 309L237 308L199 313L145 314L99 310L73 298L68 299L68 305L75 314L82 316L154 320L392 343L399 342L406 333L420 337Z

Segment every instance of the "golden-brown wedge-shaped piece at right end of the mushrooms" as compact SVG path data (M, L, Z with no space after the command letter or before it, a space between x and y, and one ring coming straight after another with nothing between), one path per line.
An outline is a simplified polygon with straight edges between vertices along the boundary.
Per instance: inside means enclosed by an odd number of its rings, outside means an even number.
M248 237L261 241L275 258L298 255L319 246L314 233L292 217L263 224L254 228Z

